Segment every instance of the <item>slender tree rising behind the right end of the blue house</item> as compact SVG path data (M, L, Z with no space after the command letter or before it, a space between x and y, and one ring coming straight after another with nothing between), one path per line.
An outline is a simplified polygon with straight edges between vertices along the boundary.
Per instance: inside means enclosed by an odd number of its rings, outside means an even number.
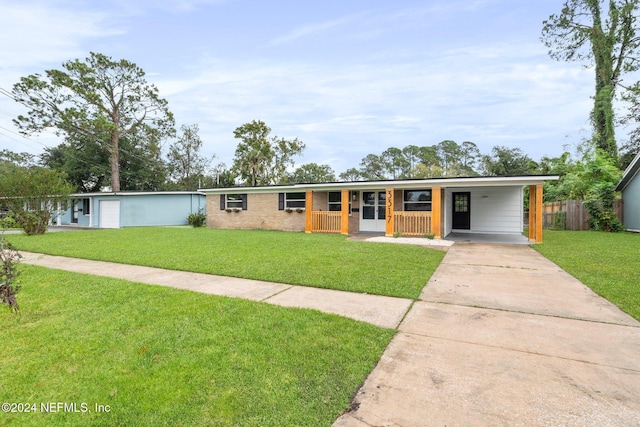
M213 158L209 159L200 154L202 139L198 135L198 125L184 125L180 129L182 136L169 146L169 174L179 189L197 190Z

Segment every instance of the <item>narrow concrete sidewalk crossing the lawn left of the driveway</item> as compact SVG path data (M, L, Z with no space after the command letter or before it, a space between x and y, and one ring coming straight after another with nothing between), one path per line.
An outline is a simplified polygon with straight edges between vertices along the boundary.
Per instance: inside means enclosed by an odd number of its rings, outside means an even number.
M20 254L23 256L22 262L24 264L169 286L205 294L263 301L286 307L313 308L384 328L397 328L413 302L413 300L406 298L357 294L162 268L90 261L22 251Z

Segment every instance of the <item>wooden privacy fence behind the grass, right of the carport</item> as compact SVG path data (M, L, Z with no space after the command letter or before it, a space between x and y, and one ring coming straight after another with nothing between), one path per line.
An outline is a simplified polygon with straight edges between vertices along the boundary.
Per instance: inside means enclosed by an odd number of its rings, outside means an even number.
M616 216L622 222L622 200L613 204ZM542 226L556 230L588 230L590 216L582 200L566 200L542 205Z

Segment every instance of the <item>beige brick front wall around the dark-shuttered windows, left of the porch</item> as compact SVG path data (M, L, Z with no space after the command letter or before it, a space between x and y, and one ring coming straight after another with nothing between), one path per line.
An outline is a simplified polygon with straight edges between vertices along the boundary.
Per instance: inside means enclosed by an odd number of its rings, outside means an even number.
M314 200L315 202L315 200ZM278 210L278 193L247 194L247 210L220 210L220 195L207 196L207 227L304 231L304 212Z

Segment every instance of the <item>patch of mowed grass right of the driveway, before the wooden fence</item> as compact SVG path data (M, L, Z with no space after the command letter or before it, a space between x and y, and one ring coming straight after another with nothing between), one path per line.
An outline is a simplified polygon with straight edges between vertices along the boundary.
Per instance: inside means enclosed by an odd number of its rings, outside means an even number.
M533 247L640 320L640 234L545 230Z

